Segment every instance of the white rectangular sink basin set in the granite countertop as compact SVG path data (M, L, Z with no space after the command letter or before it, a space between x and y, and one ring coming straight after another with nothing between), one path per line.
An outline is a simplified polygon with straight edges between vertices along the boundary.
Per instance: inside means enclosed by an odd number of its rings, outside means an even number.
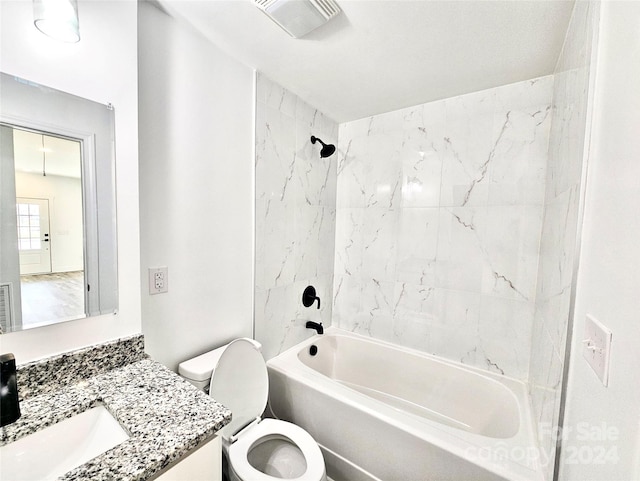
M0 447L0 479L56 479L128 438L98 406Z

